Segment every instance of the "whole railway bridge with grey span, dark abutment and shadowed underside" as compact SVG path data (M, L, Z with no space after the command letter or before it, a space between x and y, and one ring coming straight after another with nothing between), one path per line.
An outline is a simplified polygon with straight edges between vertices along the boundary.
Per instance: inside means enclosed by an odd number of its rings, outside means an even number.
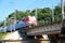
M25 28L18 30L18 34L23 40L50 40L46 43L58 43L62 28L65 27L65 20L49 23L42 26L37 26L32 28ZM28 41L32 43L32 41ZM27 42L25 42L27 43ZM37 43L37 42L35 42ZM43 42L42 42L43 43Z

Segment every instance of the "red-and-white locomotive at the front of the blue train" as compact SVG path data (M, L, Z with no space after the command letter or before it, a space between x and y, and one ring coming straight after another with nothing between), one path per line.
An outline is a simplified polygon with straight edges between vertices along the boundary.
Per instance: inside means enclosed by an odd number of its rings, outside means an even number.
M27 16L22 19L25 24L28 23L28 26L37 26L37 18L35 16Z

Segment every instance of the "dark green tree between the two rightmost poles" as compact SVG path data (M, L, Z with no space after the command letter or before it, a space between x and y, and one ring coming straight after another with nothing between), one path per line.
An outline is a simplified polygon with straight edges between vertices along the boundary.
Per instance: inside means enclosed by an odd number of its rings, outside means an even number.
M65 5L64 5L64 13L65 13ZM57 17L58 17L58 20L62 19L62 15L61 15L61 6L60 5L56 5L54 8L54 19L57 20Z

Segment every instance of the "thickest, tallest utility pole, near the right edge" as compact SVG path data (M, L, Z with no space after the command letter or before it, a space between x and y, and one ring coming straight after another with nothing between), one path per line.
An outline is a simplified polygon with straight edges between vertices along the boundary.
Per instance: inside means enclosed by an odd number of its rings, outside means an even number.
M64 17L64 2L63 0L61 0L61 12L62 12L62 29L61 29L61 37L63 39L61 39L61 43L65 43L65 17Z

